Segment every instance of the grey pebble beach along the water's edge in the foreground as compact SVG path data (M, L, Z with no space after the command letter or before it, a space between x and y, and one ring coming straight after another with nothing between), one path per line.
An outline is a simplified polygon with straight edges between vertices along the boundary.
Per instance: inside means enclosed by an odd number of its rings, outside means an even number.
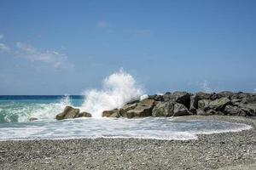
M246 123L241 132L198 134L194 140L55 139L0 141L1 169L252 169L256 118L181 116L176 121ZM234 167L235 166L235 167Z

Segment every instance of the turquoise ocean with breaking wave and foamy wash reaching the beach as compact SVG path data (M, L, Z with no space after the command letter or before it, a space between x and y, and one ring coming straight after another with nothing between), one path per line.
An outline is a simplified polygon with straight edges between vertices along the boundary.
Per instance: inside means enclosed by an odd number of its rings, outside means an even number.
M16 139L197 139L201 133L237 132L251 128L246 124L217 121L178 122L169 118L91 118L56 121L55 115L66 105L81 110L85 96L0 96L0 140ZM96 101L94 99L94 101ZM89 102L90 103L90 102ZM119 104L121 105L121 104ZM87 107L95 108L95 107ZM99 110L92 110L99 111ZM31 117L38 121L29 122Z

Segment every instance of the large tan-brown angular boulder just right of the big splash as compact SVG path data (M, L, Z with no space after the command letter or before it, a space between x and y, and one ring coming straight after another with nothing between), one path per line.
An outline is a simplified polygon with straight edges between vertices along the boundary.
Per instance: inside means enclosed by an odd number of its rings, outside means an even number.
M154 99L143 99L137 103L134 109L126 111L122 116L132 118L135 116L152 116L152 109L155 105Z

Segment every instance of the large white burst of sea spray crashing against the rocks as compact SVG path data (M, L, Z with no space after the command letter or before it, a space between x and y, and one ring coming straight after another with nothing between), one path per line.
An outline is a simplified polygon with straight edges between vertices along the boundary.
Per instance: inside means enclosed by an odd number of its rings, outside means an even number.
M143 88L127 72L120 70L106 77L102 89L84 92L84 104L81 111L88 111L93 117L102 117L102 111L120 108L132 99L139 99Z

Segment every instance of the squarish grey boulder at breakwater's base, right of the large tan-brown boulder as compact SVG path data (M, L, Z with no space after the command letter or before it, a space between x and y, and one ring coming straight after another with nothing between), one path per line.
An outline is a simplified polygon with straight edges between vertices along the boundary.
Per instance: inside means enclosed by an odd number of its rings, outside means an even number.
M159 102L154 106L152 111L152 116L173 116L174 103L169 102Z

